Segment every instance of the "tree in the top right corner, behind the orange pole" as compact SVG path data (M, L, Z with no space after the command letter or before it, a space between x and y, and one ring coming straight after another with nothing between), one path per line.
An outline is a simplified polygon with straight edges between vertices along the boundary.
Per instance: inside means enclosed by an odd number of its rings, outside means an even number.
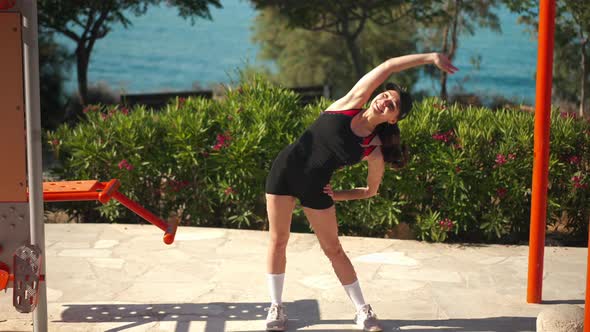
M504 0L520 15L520 21L537 33L537 1ZM587 0L557 0L555 12L554 89L557 96L579 102L584 116L586 89L590 86L590 3ZM572 79L575 78L575 79Z

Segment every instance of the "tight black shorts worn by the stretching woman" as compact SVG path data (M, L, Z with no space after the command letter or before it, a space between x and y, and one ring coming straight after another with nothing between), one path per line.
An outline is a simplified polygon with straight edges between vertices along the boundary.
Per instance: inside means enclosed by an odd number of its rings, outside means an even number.
M302 206L312 209L332 207L334 200L324 193L324 187L330 182L330 175L323 172L305 172L303 167L298 167L301 162L298 162L290 152L291 146L281 151L274 160L266 177L266 193L297 197Z

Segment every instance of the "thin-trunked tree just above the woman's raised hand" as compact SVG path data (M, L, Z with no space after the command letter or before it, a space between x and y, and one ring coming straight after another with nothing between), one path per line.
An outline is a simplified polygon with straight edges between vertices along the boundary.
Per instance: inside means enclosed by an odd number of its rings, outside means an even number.
M424 25L430 32L427 43L430 45L440 43L440 48L435 48L446 54L452 61L459 48L460 35L473 35L476 27L487 27L494 31L501 31L498 16L492 12L496 6L496 0L445 0L435 4L435 11L438 15L431 20L424 21ZM444 71L429 70L431 68L426 69L430 75L440 75L440 98L447 100L448 74Z

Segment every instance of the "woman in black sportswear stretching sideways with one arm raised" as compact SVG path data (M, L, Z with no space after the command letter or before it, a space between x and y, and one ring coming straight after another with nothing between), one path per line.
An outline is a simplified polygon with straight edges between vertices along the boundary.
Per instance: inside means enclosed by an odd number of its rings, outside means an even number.
M354 267L338 240L334 201L376 195L385 163L395 165L402 161L396 123L410 112L410 95L394 86L378 94L367 109L362 107L391 74L425 64L434 64L449 74L458 70L439 53L389 59L363 76L352 90L322 112L303 135L283 149L273 162L266 180L270 224L267 280L271 295L266 319L268 331L284 331L286 328L287 317L281 296L291 215L296 199L299 199L322 250L356 307L355 323L365 331L381 331L377 316L365 303ZM368 163L367 186L333 192L329 185L332 173L361 160Z

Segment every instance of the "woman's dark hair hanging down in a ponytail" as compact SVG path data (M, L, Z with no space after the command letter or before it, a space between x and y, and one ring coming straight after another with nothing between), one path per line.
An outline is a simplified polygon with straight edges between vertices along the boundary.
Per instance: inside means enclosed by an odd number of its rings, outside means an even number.
M394 90L399 93L401 98L399 120L408 116L412 110L412 96L409 92L402 89L395 83L387 83L384 86L385 90ZM375 128L379 139L381 140L381 154L383 160L389 163L393 168L404 167L408 162L409 153L408 147L401 143L401 131L396 124L388 122L381 123Z

